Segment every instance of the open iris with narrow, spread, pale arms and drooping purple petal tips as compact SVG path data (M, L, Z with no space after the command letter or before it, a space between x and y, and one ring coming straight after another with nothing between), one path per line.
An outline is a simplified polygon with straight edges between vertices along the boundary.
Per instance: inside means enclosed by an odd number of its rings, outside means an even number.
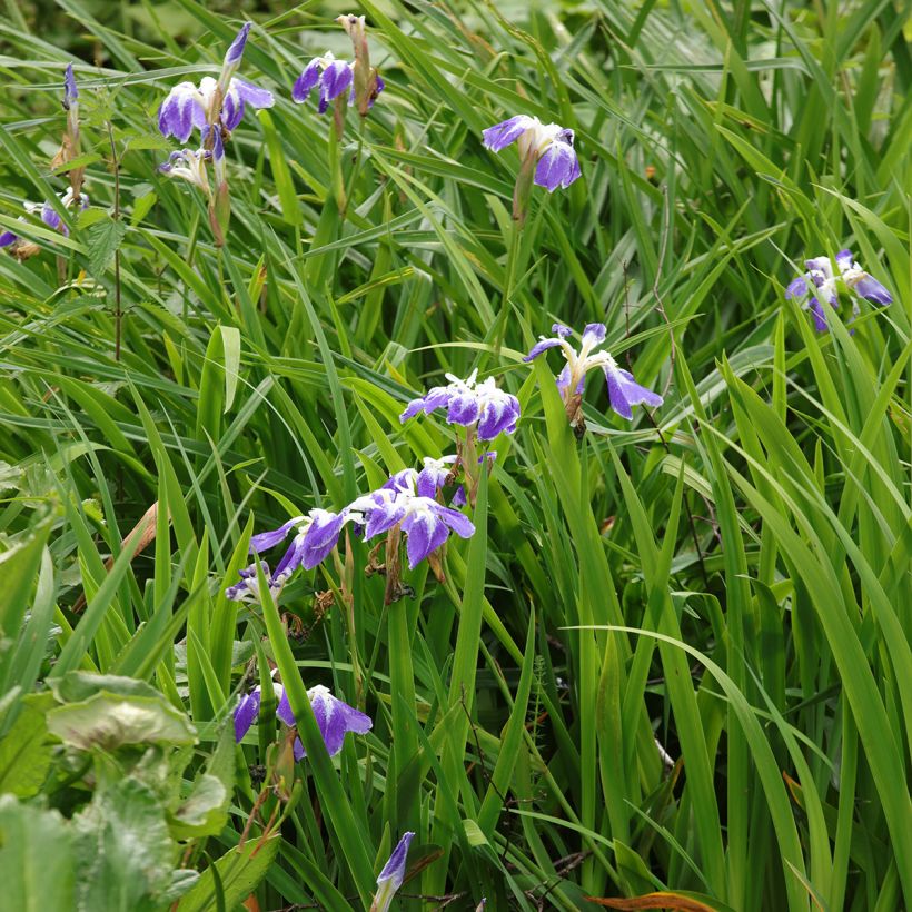
M554 324L552 337L542 337L523 358L531 361L537 358L543 351L549 348L559 348L561 354L566 359L566 365L557 377L557 386L566 404L571 404L574 396L582 396L586 385L586 374L593 368L599 367L605 374L608 385L608 399L612 408L623 418L633 418L632 406L634 405L662 405L662 397L644 386L640 386L628 370L617 366L617 361L607 351L595 351L593 349L605 341L606 328L602 323L591 323L583 330L582 345L577 351L567 338L572 330Z

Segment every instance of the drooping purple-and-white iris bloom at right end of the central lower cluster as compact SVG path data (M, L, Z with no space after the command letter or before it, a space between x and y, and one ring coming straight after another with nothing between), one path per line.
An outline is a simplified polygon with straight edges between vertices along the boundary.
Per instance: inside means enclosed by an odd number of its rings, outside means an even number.
M408 567L414 569L455 532L462 538L475 534L472 521L457 509L418 494L413 478L403 478L403 487L383 487L359 497L349 509L364 517L364 537L373 538L398 525L406 534Z

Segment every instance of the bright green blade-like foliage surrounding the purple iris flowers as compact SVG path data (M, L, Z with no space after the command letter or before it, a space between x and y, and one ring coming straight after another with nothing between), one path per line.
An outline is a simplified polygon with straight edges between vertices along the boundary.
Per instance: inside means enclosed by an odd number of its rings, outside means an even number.
M29 802L0 805L3 889L69 908L69 831L41 809L72 816L105 779L48 746L48 698L24 697L83 668L189 714L199 742L169 749L176 789L234 779L214 835L172 821L169 835L158 799L143 805L143 858L208 869L181 910L251 889L264 910L369 904L405 830L429 862L403 888L416 910L664 890L711 909L912 903L909 4L365 1L387 90L363 125L349 112L345 217L330 120L288 89L315 53L348 56L331 20L349 10L258 16L241 75L277 105L228 147L221 250L199 195L155 171L177 148L155 113L175 82L217 72L239 20L179 0L102 24L108 8L59 0L51 30L99 63L76 65L92 208L69 240L22 226L44 248L27 264L0 255L0 733L18 726L0 790ZM6 11L10 227L22 199L66 186L49 161L75 58L16 0ZM512 247L516 155L486 152L480 131L516 112L574 128L583 178L537 188ZM782 288L842 247L895 300L817 335ZM607 324L612 351L665 391L657 427L643 409L616 418L591 380L573 437L556 354L519 360L555 319ZM422 565L415 597L384 608L354 542L350 611L315 618L314 593L339 585L331 561L282 594L304 642L271 604L225 599L251 532L450 452L442 419L397 416L475 366L523 420L496 445L476 537L448 546L446 585ZM156 503L157 537L130 563L120 542ZM280 837L252 854L281 813L269 795L216 878L277 736L260 725L232 773L220 725L267 660L295 705L326 683L374 730L287 767L301 784ZM129 879L103 864L127 830L77 853L76 879ZM170 903L143 901L123 886L103 908Z

